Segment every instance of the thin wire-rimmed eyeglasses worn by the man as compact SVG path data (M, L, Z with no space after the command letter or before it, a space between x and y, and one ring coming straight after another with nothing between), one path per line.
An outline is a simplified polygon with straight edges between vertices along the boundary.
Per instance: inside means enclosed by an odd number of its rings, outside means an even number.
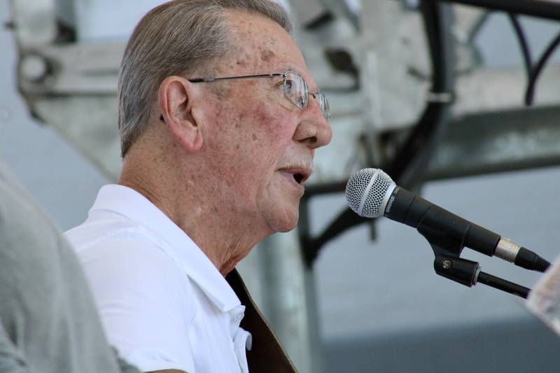
M325 119L330 118L330 106L328 104L327 97L321 92L309 92L309 87L307 87L307 82L299 73L294 71L286 71L285 73L267 73L258 75L242 75L242 76L228 76L225 78L196 78L188 79L190 83L211 83L220 80L232 80L232 79L251 79L251 78L274 78L281 76L283 80L282 88L284 96L290 100L292 104L298 108L306 108L309 101L309 94L313 96L321 108L321 113Z

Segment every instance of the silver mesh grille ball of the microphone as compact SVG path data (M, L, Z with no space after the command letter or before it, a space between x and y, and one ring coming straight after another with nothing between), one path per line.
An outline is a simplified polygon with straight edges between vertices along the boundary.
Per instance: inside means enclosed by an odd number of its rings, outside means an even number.
M364 218L379 218L395 183L380 169L360 169L346 184L346 201Z

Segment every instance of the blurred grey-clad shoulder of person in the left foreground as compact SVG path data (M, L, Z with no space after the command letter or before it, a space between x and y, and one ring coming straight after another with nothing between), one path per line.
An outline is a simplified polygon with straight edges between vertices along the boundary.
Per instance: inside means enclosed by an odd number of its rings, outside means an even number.
M45 373L127 367L106 340L73 248L1 160L0 299L9 331L0 344L10 346L2 363Z

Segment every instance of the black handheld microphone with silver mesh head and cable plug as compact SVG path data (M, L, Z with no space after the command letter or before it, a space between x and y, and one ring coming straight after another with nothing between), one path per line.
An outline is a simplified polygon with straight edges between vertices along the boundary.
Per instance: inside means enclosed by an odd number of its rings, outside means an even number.
M346 201L359 216L385 216L404 223L416 228L430 244L447 250L451 240L458 243L456 246L459 247L452 248L457 253L468 247L538 272L545 272L550 265L547 260L510 239L400 188L381 169L361 169L353 174L346 184Z

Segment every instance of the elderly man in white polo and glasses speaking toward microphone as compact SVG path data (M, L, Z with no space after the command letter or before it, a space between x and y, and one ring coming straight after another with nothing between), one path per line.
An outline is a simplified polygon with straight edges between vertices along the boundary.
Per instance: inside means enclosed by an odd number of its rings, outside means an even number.
M111 343L141 370L267 366L247 363L249 310L230 286L239 279L225 276L258 241L295 227L314 150L331 139L328 101L288 31L272 1L179 0L130 38L123 171L67 236ZM246 328L249 354L281 351ZM293 370L275 361L267 372Z

